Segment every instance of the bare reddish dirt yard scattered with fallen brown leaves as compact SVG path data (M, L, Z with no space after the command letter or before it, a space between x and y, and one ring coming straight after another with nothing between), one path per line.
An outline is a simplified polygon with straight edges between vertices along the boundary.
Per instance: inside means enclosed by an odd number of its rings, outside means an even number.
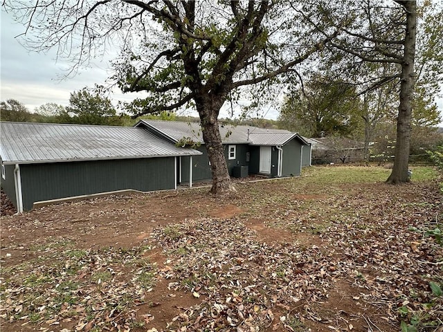
M2 216L0 329L442 331L436 181L354 171Z

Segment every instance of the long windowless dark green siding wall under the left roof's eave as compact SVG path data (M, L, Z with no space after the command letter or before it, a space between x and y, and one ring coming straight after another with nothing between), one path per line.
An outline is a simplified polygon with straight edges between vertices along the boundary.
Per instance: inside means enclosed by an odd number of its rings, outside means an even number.
M174 189L174 157L20 165L23 208L115 190Z

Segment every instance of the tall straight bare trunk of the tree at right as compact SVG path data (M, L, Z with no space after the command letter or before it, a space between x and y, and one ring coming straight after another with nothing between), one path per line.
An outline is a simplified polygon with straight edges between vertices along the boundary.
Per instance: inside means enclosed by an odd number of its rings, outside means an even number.
M392 173L386 183L407 183L409 146L410 146L410 119L412 114L412 99L414 92L414 60L415 39L417 32L417 3L416 1L396 1L406 10L406 36L404 41L404 59L401 64L400 105L397 117L397 143L395 145L395 159Z

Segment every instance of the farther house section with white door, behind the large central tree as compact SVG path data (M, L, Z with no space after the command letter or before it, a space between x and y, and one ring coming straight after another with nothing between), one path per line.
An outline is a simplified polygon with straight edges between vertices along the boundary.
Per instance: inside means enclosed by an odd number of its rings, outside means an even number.
M193 157L192 163L188 162L187 156L179 158L179 168L184 169L180 183L188 183L189 174L192 174L192 181L211 178L208 151L199 123L141 120L135 127L145 128L158 138L174 144L192 142L197 145L195 149L201 151L201 155ZM306 149L306 154L310 156L310 146L298 133L224 124L219 129L230 176L299 176L303 160L310 165L309 157L302 158L302 149ZM190 170L189 165L192 165Z

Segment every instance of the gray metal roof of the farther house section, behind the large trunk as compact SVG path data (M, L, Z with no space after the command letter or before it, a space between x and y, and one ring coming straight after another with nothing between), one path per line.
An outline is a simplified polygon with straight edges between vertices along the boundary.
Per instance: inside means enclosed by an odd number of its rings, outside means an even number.
M178 142L182 138L191 138L194 142L204 144L199 122L141 120L136 124L136 127L143 127L143 125L151 127L172 142ZM284 145L296 137L307 145L307 142L298 133L291 133L291 131L283 129L265 129L231 124L220 124L219 129L223 144Z

